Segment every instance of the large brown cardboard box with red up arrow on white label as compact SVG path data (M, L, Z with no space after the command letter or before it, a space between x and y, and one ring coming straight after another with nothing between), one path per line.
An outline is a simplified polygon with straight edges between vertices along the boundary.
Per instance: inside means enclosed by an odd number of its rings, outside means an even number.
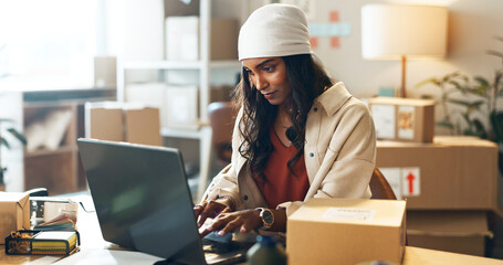
M475 137L377 141L376 166L410 210L496 208L497 146Z

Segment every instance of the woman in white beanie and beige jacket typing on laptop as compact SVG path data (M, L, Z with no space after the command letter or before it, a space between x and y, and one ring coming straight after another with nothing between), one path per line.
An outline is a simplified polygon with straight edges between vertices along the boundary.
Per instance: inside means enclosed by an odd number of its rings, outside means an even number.
M305 14L289 4L253 12L239 35L241 109L232 161L195 206L201 235L285 232L310 198L369 198L376 138L368 108L313 60Z

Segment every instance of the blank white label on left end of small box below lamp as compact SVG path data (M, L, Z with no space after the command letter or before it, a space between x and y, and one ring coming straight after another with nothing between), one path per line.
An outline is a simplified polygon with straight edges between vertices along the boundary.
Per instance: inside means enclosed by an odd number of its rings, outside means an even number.
M395 138L395 106L373 104L370 106L376 136L380 139Z

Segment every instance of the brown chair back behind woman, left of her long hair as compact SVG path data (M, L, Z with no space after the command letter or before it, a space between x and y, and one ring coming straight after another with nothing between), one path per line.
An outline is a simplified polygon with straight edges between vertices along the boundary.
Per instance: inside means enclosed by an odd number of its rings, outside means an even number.
M208 118L213 131L212 148L222 166L231 162L232 130L238 109L230 102L214 102L208 105Z

